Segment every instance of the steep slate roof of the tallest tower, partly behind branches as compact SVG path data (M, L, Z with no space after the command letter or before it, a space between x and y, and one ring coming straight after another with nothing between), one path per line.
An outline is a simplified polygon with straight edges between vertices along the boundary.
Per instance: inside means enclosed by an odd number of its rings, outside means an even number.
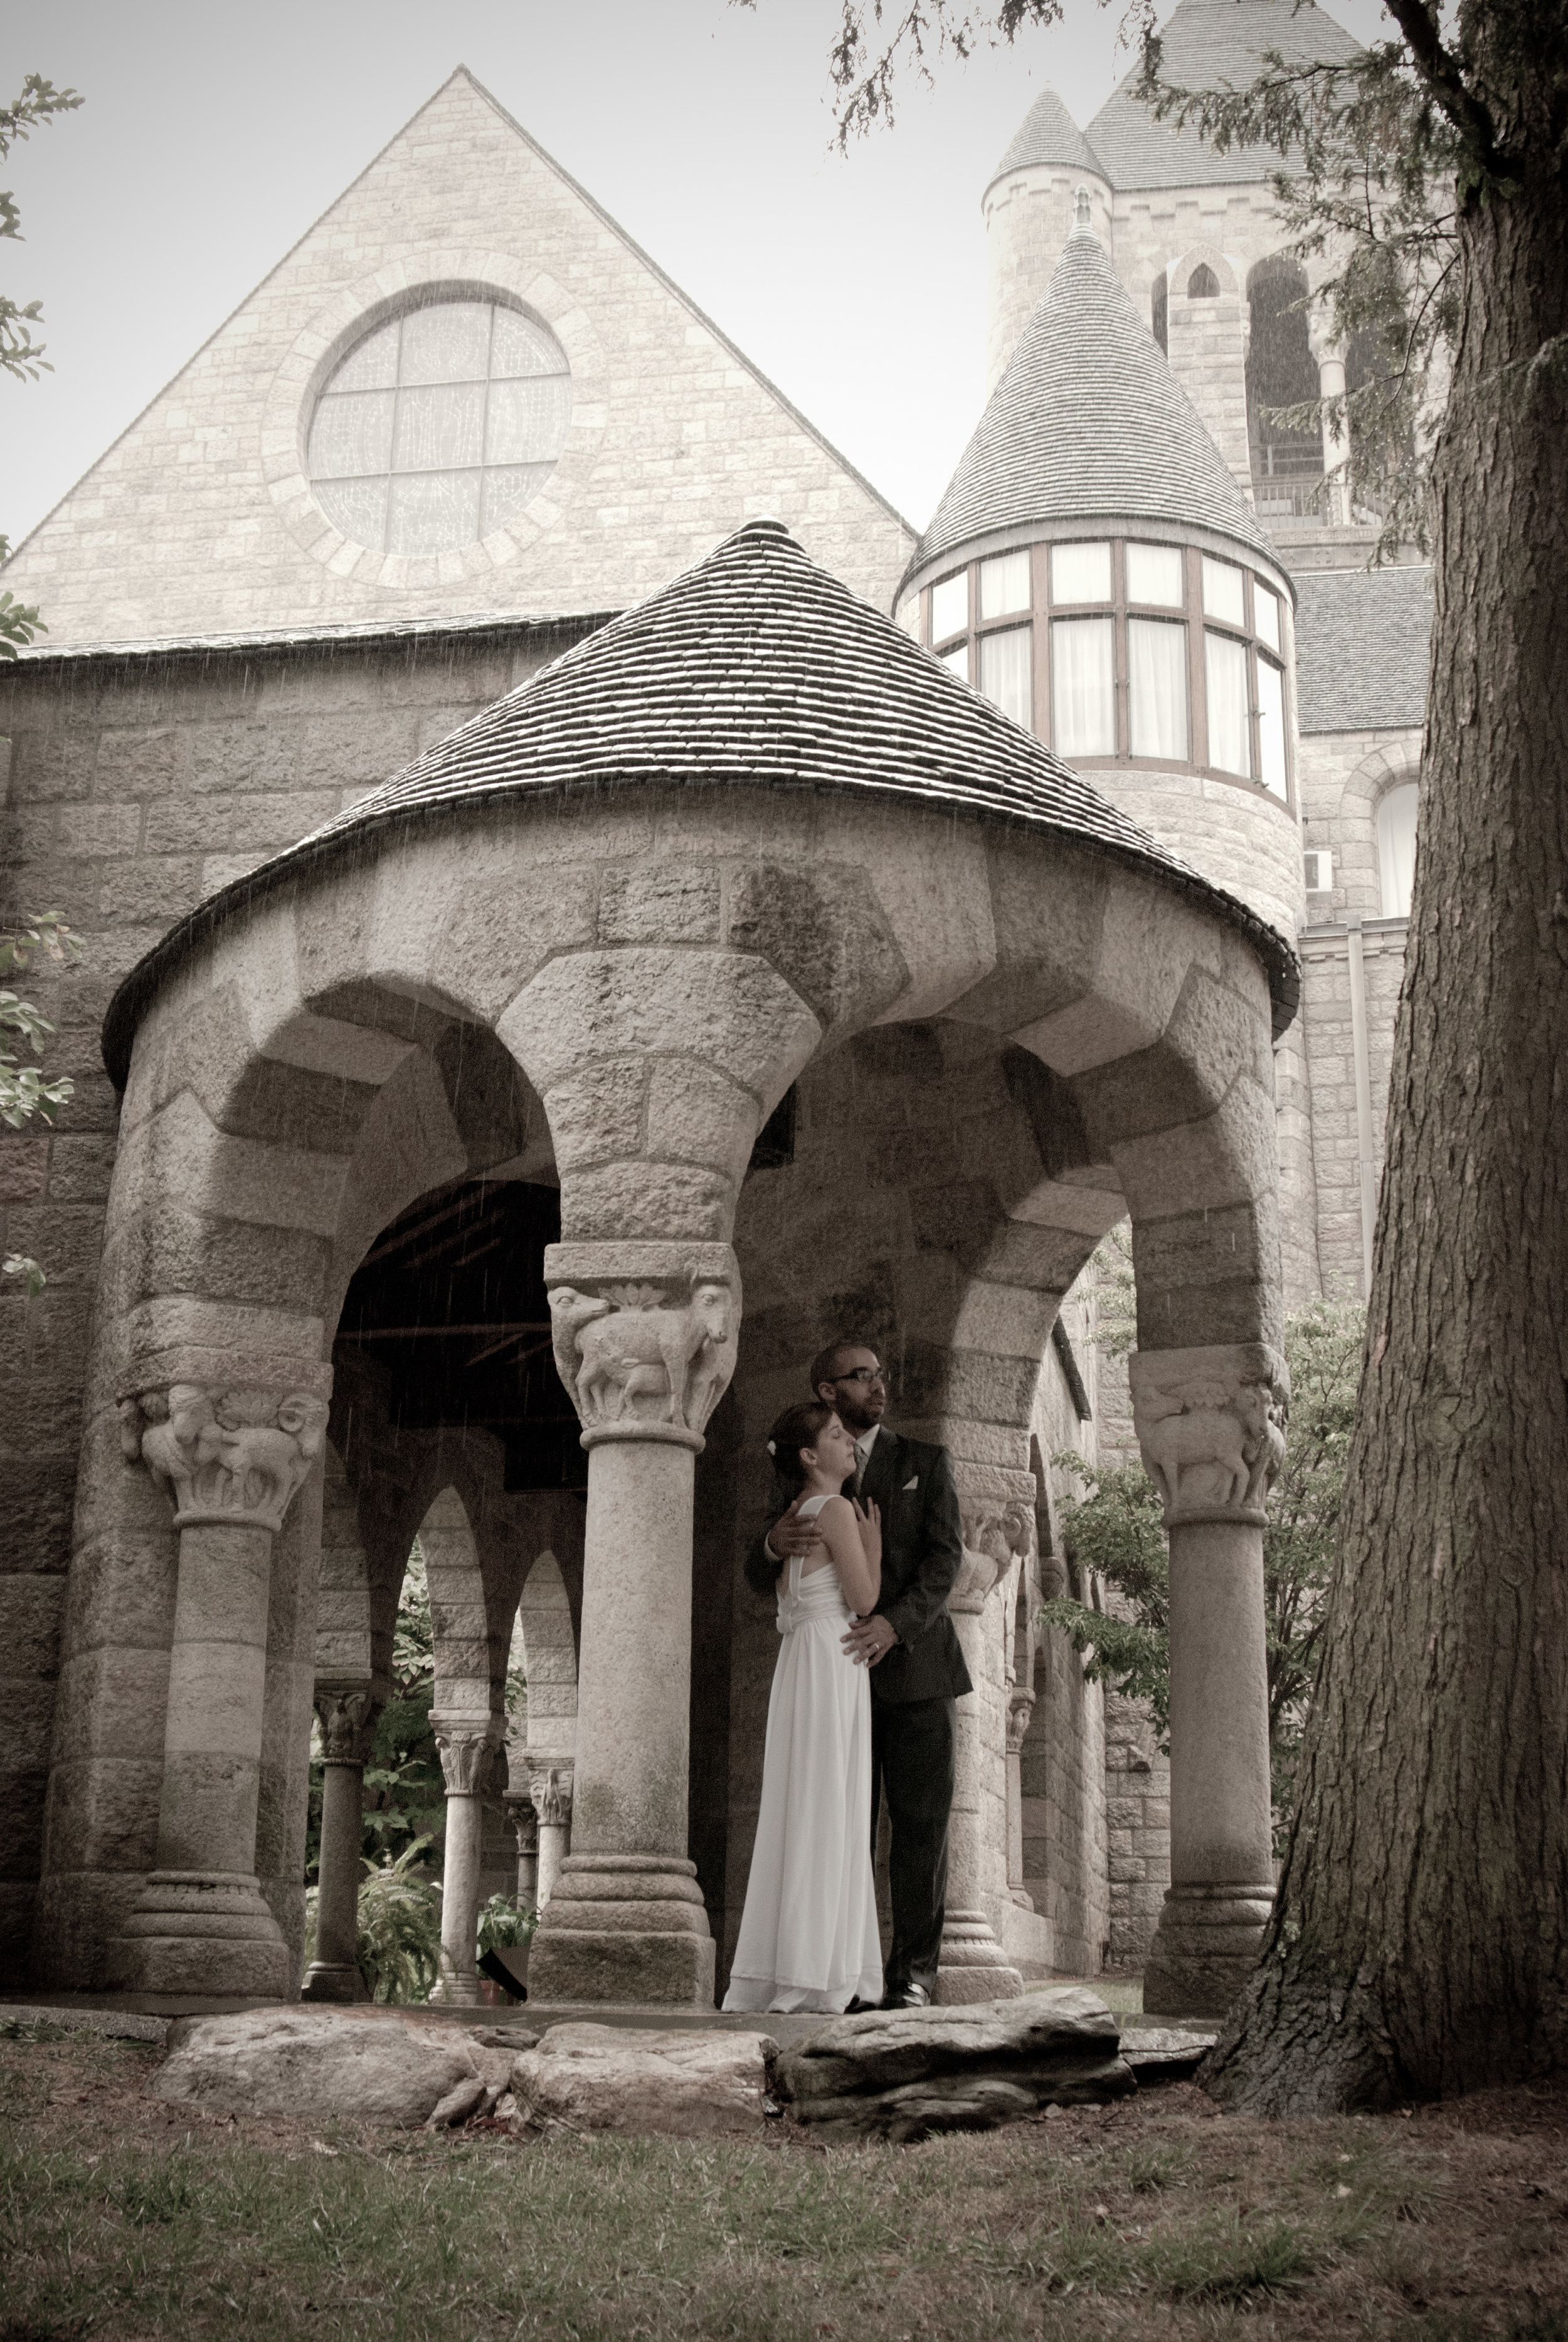
M1313 0L1181 0L1160 28L1160 80L1177 89L1245 89L1259 77L1266 49L1277 49L1291 66L1343 66L1362 54L1359 40ZM1137 63L1085 133L1113 187L1230 187L1280 169L1273 148L1219 155L1195 131L1155 122L1132 94L1141 73Z

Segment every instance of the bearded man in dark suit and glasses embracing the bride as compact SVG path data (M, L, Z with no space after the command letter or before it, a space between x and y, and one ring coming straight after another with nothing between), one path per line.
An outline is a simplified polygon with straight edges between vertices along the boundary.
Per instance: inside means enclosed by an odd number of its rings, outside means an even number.
M874 1349L832 1342L811 1361L811 1389L855 1443L858 1466L844 1494L881 1506L881 1595L844 1649L872 1670L872 1848L884 1796L893 1831L893 1949L881 2007L923 2009L942 1953L954 1700L973 1689L947 1616L963 1562L959 1492L945 1447L907 1440L881 1422L888 1389ZM773 1593L790 1555L818 1543L813 1522L795 1518L799 1497L788 1513L785 1497L776 1482L771 1511L783 1518L745 1557L745 1579L759 1595Z

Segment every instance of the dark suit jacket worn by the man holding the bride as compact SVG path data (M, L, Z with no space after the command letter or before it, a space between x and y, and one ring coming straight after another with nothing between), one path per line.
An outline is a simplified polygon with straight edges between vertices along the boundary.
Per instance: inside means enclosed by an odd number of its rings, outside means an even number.
M914 1487L909 1487L914 1482ZM846 1494L853 1480L844 1482ZM959 1490L945 1447L907 1440L884 1424L865 1468L860 1497L881 1506L881 1595L877 1609L898 1632L886 1658L870 1670L877 1700L952 1700L973 1691L947 1597L963 1564ZM795 1492L773 1480L769 1529L790 1511ZM778 1583L766 1529L745 1555L745 1581L759 1595Z

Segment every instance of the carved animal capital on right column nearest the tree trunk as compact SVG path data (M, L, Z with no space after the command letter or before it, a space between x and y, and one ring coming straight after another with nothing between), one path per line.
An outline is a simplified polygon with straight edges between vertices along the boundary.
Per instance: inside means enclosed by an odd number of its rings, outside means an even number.
M1263 1527L1284 1461L1289 1370L1266 1342L1134 1349L1132 1424L1165 1527L1221 1520Z

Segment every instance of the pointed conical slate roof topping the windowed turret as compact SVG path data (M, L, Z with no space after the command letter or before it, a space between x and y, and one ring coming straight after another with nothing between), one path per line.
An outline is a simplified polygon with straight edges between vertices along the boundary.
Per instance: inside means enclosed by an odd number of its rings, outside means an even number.
M905 581L991 529L1111 518L1219 529L1280 567L1099 237L1076 227Z

